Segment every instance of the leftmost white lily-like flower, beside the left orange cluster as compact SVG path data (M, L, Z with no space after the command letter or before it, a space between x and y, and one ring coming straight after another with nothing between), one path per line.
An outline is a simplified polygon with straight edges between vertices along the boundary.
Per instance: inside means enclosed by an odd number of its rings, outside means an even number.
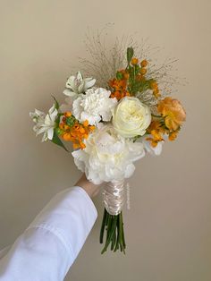
M53 139L55 119L57 115L58 111L55 108L55 105L49 109L47 115L38 109L35 109L35 112L30 112L30 117L34 123L36 123L33 127L34 132L36 132L36 136L38 136L40 133L44 133L42 141Z

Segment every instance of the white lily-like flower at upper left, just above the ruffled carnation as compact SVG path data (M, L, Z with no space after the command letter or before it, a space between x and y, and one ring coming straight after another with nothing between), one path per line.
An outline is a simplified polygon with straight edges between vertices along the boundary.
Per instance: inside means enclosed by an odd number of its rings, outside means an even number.
M92 78L85 78L83 79L82 74L77 72L76 76L71 76L66 81L66 88L63 91L63 94L76 98L77 94L84 93L87 89L94 86L96 80Z

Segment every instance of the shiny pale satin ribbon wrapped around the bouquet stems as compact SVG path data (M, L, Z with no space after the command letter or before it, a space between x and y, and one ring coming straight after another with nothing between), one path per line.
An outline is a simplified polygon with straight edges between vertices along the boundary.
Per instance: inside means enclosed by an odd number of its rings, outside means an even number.
M124 204L124 180L105 183L103 190L105 209L110 215L121 213Z

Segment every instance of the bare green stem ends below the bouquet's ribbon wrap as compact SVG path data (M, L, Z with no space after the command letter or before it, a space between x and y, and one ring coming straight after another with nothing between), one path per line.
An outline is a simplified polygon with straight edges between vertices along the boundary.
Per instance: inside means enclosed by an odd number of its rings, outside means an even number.
M104 233L106 233L105 246L101 253L103 254L109 244L111 244L111 251L123 251L125 253L126 243L124 240L124 230L122 221L122 212L118 215L110 215L104 209L104 217L102 220L99 242L104 242Z

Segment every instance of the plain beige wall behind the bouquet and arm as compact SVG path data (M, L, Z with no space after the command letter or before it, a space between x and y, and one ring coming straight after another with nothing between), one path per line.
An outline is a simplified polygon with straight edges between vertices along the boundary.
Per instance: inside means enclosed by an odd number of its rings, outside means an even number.
M71 156L35 139L29 111L46 110L51 94L63 99L87 26L114 22L113 34L139 31L180 59L189 83L176 97L188 120L178 141L140 161L130 180L126 256L100 255L98 197L97 224L66 280L211 280L210 8L209 0L0 1L0 247L79 178Z

